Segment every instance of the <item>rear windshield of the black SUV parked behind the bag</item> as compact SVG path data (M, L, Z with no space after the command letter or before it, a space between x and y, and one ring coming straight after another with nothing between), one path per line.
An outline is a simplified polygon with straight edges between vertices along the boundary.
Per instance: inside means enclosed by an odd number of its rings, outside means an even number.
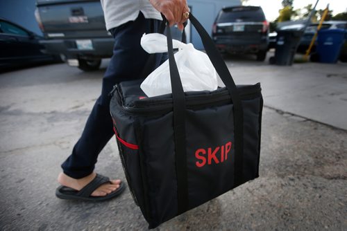
M262 8L257 6L240 6L225 8L219 12L217 23L237 21L265 21Z

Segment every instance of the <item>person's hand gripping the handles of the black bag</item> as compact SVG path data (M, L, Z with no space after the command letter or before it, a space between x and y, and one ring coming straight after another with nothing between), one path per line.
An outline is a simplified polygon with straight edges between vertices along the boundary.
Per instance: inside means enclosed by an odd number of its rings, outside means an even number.
M178 29L183 30L183 23L189 17L187 0L149 0L149 2L167 18L170 26L177 24Z

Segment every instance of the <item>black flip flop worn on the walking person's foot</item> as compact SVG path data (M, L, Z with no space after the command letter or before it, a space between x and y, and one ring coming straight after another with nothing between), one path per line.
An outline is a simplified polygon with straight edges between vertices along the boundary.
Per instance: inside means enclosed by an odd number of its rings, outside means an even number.
M56 196L60 199L67 200L83 200L83 201L106 201L110 200L110 198L114 198L118 196L125 190L125 184L121 183L119 188L115 192L111 192L106 196L90 196L94 190L96 190L100 185L110 182L110 178L96 174L96 177L93 181L90 181L89 184L85 185L82 190L77 191L71 189L71 187L66 187L60 185L56 190Z

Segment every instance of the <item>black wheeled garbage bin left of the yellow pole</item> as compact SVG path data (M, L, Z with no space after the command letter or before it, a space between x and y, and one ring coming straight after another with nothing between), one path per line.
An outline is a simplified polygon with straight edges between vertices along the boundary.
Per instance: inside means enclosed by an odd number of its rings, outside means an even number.
M275 56L270 58L270 64L291 66L301 35L303 35L301 30L278 31Z

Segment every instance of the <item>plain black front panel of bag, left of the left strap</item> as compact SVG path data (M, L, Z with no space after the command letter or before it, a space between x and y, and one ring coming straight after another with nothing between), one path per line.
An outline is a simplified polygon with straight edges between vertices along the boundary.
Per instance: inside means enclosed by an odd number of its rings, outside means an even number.
M173 113L144 122L142 150L146 158L147 183L151 207L151 227L176 216L177 180Z

